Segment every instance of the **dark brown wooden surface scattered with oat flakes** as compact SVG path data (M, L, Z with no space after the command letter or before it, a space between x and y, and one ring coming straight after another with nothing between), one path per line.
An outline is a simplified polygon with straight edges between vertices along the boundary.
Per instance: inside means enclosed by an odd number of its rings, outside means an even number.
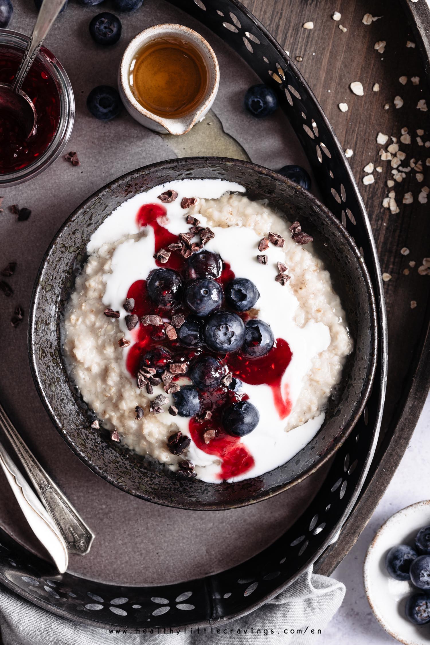
M429 275L418 274L424 257L430 256L429 216L427 204L418 202L422 186L430 187L430 147L419 146L416 130L424 130L422 141L430 140L430 112L416 109L420 99L426 99L430 108L430 92L418 43L407 24L400 3L394 0L329 0L305 3L302 0L244 0L253 14L269 29L290 54L300 72L317 96L322 109L331 121L337 137L345 148L353 150L349 159L355 179L364 198L375 235L382 272L392 275L384 283L389 321L389 373L387 398L382 432L366 484L342 530L342 539L331 546L318 561L322 573L330 573L353 546L358 535L384 494L402 455L410 441L430 382ZM333 11L341 14L340 21L332 19ZM364 25L364 14L382 16L371 25ZM306 30L303 23L313 21L314 28ZM338 25L347 28L342 32ZM374 45L386 41L383 54ZM296 57L302 61L296 61ZM398 80L407 76L405 85ZM420 77L415 86L411 77ZM353 81L360 81L364 96L356 96L349 89ZM373 85L380 85L373 92ZM402 97L404 104L396 108L393 99ZM347 103L349 110L340 112L338 103ZM389 108L384 109L388 103ZM411 144L400 143L402 128L408 128ZM418 183L411 170L402 183L387 187L393 179L389 161L380 161L376 143L378 132L397 137L400 150L406 153L402 166L409 160L422 160L424 181ZM391 143L389 141L387 145ZM375 183L362 183L364 166L372 162L382 166L382 173L373 172ZM395 190L400 212L382 207L382 200ZM412 192L413 203L403 204L405 193ZM402 248L409 255L402 255ZM415 267L409 266L415 261ZM403 272L409 269L409 274ZM411 308L411 301L416 307ZM427 344L425 344L427 341ZM411 473L413 476L413 473Z

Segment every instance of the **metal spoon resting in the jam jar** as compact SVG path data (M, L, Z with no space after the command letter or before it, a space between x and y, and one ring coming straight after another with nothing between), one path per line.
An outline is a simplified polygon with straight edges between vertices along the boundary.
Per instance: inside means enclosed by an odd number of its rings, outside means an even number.
M0 111L9 112L17 119L23 126L27 139L35 132L37 114L33 102L21 90L21 86L35 57L39 53L46 34L48 34L63 5L64 0L43 0L30 41L28 41L25 54L15 74L14 82L12 85L0 83Z

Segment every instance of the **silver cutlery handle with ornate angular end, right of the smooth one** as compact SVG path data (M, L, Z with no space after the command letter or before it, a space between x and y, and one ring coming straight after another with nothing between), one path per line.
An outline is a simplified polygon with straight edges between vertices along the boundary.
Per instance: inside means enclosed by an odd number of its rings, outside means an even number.
M55 524L61 531L68 550L80 555L88 553L94 534L35 459L1 405L0 428L12 444L44 507L52 515Z

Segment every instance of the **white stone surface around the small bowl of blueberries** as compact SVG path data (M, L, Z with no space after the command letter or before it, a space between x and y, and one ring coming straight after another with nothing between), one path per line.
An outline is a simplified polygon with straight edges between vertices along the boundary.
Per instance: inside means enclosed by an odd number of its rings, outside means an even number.
M318 645L345 642L348 645L382 645L395 642L382 629L367 602L363 587L363 561L367 547L381 524L405 506L429 499L429 432L430 396L384 497L376 506L375 513L355 546L333 573L333 577L346 585L346 597L340 610L318 639Z

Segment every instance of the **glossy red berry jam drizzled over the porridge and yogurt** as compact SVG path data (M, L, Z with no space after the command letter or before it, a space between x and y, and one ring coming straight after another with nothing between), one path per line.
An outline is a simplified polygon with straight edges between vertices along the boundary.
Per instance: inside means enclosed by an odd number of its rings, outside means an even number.
M151 226L153 229L155 237L154 253L159 252L161 248L166 248L169 244L179 241L177 235L173 235L162 226L165 222L163 222L163 219L166 217L166 213L166 208L161 204L144 204L137 213L136 221L139 227ZM173 251L166 263L160 263L157 259L155 263L161 268L181 272L184 267L184 257L182 257L181 253ZM231 270L230 264L223 261L222 272L217 282L224 288L234 278L235 273ZM146 280L137 280L133 283L128 290L127 297L134 299L135 306L131 313L135 313L139 319L144 315L153 313L166 317L166 311L150 300L146 289ZM188 314L188 312L182 310L180 305L175 308L175 313ZM161 327L139 324L139 327L135 328L133 333L135 333L135 342L128 351L126 362L128 372L133 377L136 377L139 371L142 353L149 352L155 347L168 347L175 362L191 361L193 357L202 352L200 348L190 350L182 347L177 341L170 341ZM288 397L284 400L281 392L282 375L291 361L291 350L288 342L282 338L277 339L270 352L259 359L246 359L235 354L220 358L228 364L233 375L237 376L241 381L251 385L269 385L273 392L273 400L280 419L284 419L289 415L291 402ZM176 377L174 380L176 380ZM255 464L253 456L248 448L240 442L240 437L232 437L226 433L221 421L222 409L226 404L231 404L234 401L245 401L248 399L248 395L233 393L228 388L222 387L215 390L215 392L200 393L200 399L202 401L202 413L210 411L212 416L208 421L200 421L198 417L191 417L189 422L191 438L197 448L200 448L203 452L220 457L222 464L218 475L219 479L225 480L239 477L239 475L251 470ZM204 433L208 430L215 430L215 437L209 443L206 443Z

